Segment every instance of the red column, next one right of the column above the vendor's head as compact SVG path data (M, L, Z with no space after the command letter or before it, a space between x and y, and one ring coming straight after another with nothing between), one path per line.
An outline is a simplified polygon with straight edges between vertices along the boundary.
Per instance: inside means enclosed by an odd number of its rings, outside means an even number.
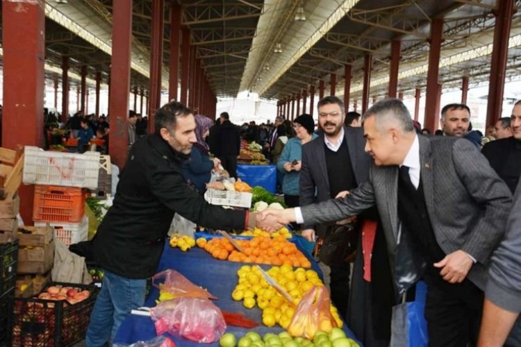
M179 85L179 38L181 31L181 6L177 1L170 4L170 62L168 76L168 100L177 100Z

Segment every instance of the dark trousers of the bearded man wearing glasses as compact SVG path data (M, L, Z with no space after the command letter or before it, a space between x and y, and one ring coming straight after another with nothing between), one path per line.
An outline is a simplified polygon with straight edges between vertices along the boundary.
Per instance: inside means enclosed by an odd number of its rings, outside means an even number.
M329 288L331 289L331 301L336 306L342 319L347 317L347 306L349 305L349 275L351 274L351 263L329 266Z

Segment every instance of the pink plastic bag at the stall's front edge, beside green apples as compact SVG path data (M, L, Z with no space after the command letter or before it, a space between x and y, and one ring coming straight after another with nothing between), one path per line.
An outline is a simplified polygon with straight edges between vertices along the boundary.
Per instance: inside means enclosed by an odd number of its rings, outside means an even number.
M150 310L158 335L164 332L181 335L191 341L217 341L226 331L219 307L208 299L176 298L163 301Z

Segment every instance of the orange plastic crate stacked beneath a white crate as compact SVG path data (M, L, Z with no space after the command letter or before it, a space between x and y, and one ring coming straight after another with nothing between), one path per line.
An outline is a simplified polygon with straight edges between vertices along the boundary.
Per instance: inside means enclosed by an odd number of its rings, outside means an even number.
M85 214L85 194L81 188L36 185L33 220L78 223Z

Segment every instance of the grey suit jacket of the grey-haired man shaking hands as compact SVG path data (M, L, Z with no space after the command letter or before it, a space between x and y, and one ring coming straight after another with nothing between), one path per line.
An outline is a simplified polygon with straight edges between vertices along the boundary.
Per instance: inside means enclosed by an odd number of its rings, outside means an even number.
M512 194L476 146L457 137L420 139L425 203L436 241L446 253L461 249L477 264L468 278L483 289L490 255L502 239ZM377 205L386 235L391 271L396 269L400 223L397 212L398 167L370 169L370 180L343 199L301 208L306 224L337 221Z

